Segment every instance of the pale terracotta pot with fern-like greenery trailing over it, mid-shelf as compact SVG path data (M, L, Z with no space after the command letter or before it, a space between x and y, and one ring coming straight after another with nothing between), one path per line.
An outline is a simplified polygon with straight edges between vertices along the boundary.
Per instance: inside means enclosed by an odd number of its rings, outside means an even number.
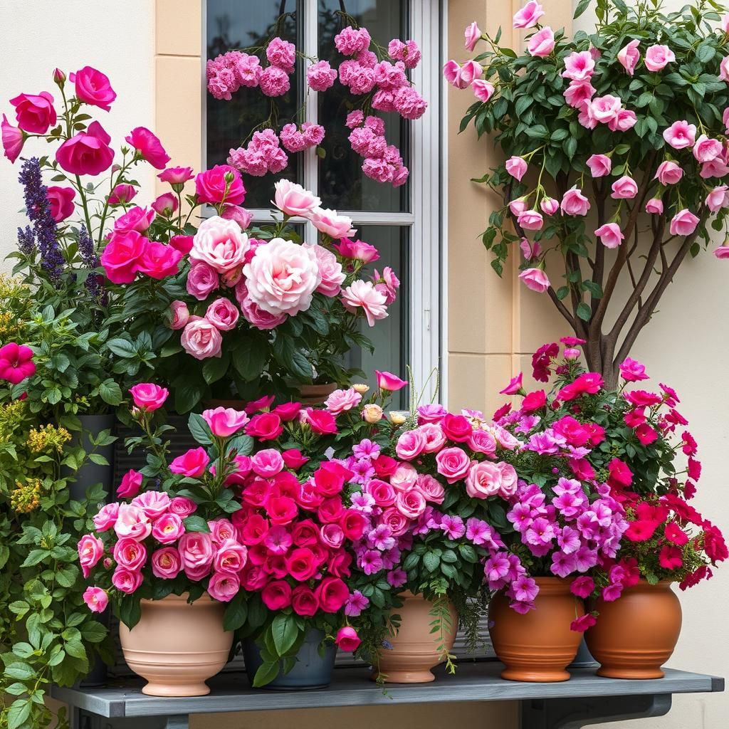
M401 593L400 597L404 601L402 607L393 609L400 616L400 626L397 635L388 639L392 650L380 653L380 665L373 671L373 680L380 676L387 683L434 681L430 669L442 663L443 654L438 650L440 634L430 632L434 620L431 615L433 604L422 595L413 595L411 592ZM451 652L458 631L458 613L453 603L448 604L448 611L451 614L451 628L443 638L445 647Z

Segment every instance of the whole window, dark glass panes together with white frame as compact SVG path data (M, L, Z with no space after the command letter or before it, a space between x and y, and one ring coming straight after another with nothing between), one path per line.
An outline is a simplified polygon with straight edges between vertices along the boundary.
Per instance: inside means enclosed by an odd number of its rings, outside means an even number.
M429 103L425 116L413 123L397 114L376 112L386 122L389 143L399 147L410 168L402 187L364 176L362 159L347 139L344 122L350 109L340 93L342 87L337 83L322 94L308 90L301 60L291 90L276 100L276 113L258 89L243 87L232 101L218 101L206 93L203 137L206 164L211 166L225 163L229 150L239 147L263 120L270 119L276 129L293 120L324 125L323 155L308 149L289 155L289 167L278 175L243 175L249 191L246 207L255 220L269 220L273 182L286 176L313 190L322 206L354 220L358 237L380 251L377 267L391 266L402 286L388 319L366 332L375 343L375 356L353 351L351 364L368 374L377 368L405 375L410 363L418 386L438 366L440 352L439 4L438 0L207 0L203 36L208 58L233 48L262 46L278 35L305 55L330 61L336 68L342 57L335 50L334 36L349 24L346 13L381 44L410 38L423 50L413 82ZM305 240L315 239L316 230L305 223Z

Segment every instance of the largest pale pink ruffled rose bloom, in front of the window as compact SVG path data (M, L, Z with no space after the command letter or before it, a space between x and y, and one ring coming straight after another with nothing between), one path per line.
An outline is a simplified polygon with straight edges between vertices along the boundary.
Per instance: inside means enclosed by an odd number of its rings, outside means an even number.
M248 296L264 311L295 315L311 306L321 284L316 253L284 238L273 238L256 249L243 267Z

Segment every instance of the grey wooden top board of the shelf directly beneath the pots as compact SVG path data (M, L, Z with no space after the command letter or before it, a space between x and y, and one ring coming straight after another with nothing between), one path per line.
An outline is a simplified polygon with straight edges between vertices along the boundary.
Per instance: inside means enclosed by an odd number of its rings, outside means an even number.
M386 693L363 668L335 671L332 685L318 691L252 690L245 676L224 674L209 682L211 694L196 698L155 698L141 693L140 682L115 687L52 689L53 698L103 717L149 717L171 714L322 709L330 706L373 706L440 701L523 701L525 699L589 696L710 693L724 690L724 679L666 668L655 681L604 679L594 669L579 668L572 680L554 684L504 681L496 661L461 663L456 676L438 674L436 681L418 685L388 685Z

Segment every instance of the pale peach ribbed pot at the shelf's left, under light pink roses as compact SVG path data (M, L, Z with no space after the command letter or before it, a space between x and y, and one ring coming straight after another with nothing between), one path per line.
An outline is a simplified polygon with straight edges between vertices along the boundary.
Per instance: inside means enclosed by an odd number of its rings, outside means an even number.
M217 674L233 644L223 630L225 605L207 595L192 604L187 595L142 600L141 620L132 630L123 623L119 637L129 668L149 682L150 696L204 696L206 679Z

